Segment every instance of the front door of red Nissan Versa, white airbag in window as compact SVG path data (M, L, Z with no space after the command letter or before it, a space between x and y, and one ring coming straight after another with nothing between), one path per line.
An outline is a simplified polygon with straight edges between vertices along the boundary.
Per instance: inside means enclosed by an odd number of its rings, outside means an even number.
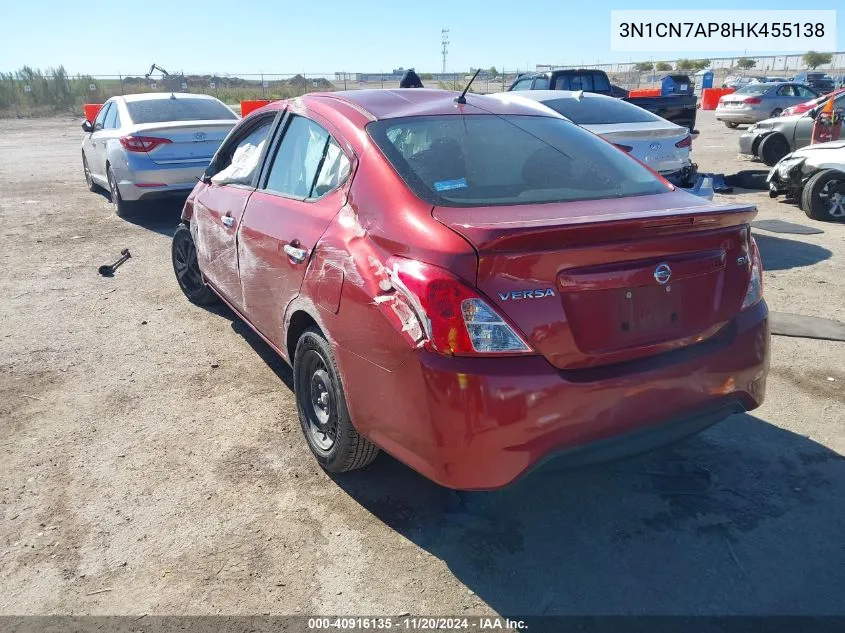
M203 276L236 309L243 309L237 231L266 151L276 112L244 122L220 148L210 182L194 196L191 230Z

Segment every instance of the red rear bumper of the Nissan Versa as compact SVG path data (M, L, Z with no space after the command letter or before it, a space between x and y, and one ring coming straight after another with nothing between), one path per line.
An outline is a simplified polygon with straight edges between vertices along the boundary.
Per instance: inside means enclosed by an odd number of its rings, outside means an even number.
M541 356L428 352L387 371L337 352L361 433L444 486L491 489L556 456L580 464L634 454L756 408L768 311L760 302L694 347L571 372Z

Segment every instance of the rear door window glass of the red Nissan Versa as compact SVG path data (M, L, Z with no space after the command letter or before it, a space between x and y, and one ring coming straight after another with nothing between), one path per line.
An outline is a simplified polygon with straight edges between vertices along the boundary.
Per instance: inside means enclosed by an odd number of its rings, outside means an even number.
M319 198L346 179L349 166L349 159L321 125L294 116L273 158L264 188L291 198Z

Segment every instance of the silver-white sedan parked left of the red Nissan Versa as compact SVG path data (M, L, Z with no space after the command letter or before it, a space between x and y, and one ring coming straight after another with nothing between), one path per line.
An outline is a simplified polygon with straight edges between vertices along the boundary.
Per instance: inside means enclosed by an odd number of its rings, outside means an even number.
M85 181L109 191L118 215L133 201L187 196L237 121L207 95L112 97L82 123Z

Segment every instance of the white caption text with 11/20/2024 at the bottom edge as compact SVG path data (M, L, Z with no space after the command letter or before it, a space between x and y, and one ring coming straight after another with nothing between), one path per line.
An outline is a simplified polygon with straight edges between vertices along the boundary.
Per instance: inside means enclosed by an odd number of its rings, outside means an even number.
M447 618L447 617L336 617L308 618L309 631L362 629L397 631L524 631L524 620L500 617Z

